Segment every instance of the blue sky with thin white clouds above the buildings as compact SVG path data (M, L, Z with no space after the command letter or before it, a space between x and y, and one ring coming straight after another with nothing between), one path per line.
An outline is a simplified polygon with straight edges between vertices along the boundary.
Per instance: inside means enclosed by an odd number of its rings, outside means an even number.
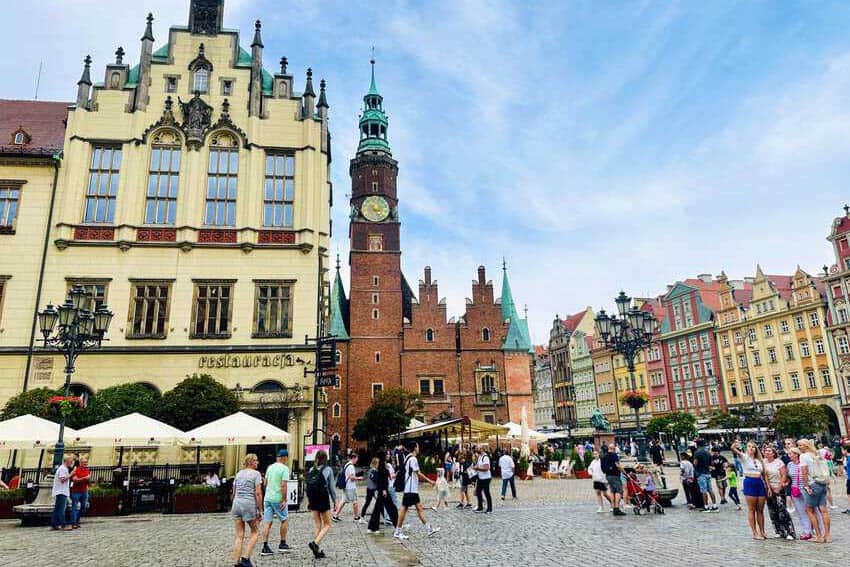
M117 6L123 4L120 9ZM138 59L188 0L5 6L0 97L72 100L118 45ZM555 313L658 294L698 273L810 273L850 199L850 3L226 0L264 23L303 87L328 81L335 243L347 253L348 160L376 49L400 162L403 266L431 265L450 314L479 264L508 261L535 341ZM498 292L497 292L498 293Z

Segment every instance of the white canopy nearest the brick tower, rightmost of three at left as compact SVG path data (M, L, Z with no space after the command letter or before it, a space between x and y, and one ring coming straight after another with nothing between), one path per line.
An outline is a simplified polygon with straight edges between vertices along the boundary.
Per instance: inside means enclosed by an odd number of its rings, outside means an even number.
M186 432L186 442L199 447L286 445L290 440L291 436L283 429L241 411Z

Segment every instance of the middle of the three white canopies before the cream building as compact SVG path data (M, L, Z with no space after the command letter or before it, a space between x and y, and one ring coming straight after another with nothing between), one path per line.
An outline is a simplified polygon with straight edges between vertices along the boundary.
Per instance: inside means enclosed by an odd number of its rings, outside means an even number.
M69 439L90 447L159 447L182 443L185 435L152 417L131 413L80 429Z

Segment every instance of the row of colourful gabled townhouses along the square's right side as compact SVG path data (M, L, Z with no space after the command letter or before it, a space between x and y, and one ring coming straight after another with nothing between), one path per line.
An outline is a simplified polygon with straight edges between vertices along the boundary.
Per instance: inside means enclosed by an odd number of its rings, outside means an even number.
M704 417L751 405L770 414L808 401L827 408L831 433L850 431L850 207L827 240L836 261L817 276L799 266L792 275L756 266L743 280L701 274L658 297L636 298L659 321L655 340L635 361L634 387L648 398L641 422L671 411ZM548 346L536 350L538 424L589 435L599 408L616 431L628 433L635 415L620 394L632 389L631 377L623 356L596 336L594 318L590 307L556 315Z

